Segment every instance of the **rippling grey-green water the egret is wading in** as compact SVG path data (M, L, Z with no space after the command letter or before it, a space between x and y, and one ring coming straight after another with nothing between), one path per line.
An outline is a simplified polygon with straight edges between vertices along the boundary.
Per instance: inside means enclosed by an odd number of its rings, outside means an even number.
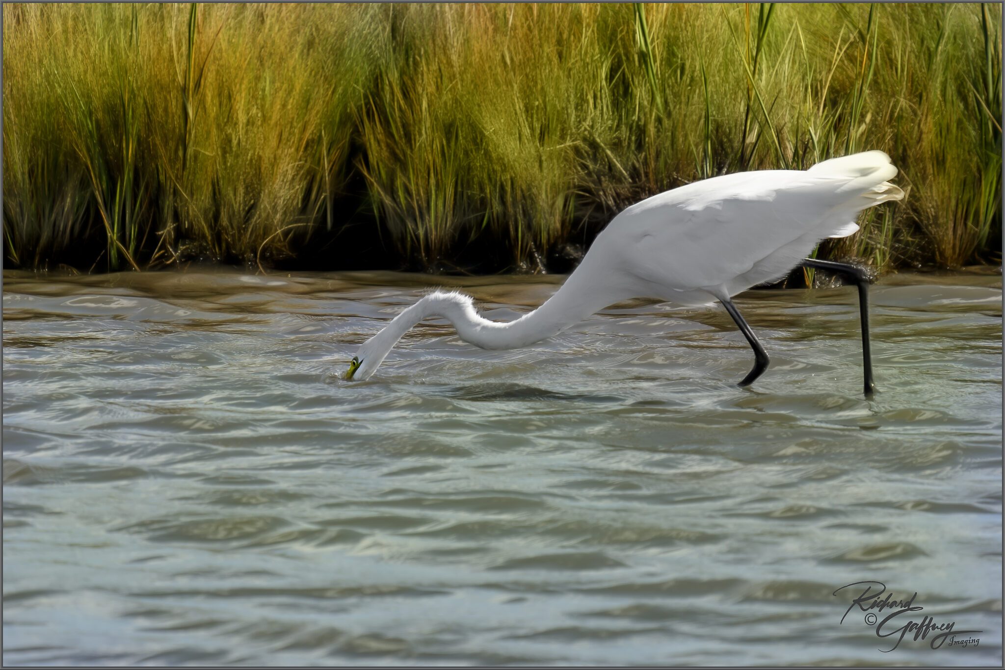
M852 288L740 297L742 390L722 307L646 300L338 377L424 287L561 277L4 278L7 664L1001 663L1000 275L873 287L873 401ZM880 652L864 580L978 646Z

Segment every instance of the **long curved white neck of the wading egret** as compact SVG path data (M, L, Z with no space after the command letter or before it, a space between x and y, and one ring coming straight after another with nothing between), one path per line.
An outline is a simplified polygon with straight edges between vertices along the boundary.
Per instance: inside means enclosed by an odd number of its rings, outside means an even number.
M375 338L390 350L412 326L430 316L453 323L464 342L481 349L517 349L546 340L617 301L618 296L592 282L572 276L543 305L513 321L492 321L474 309L471 298L461 293L437 291L395 316ZM386 334L385 334L386 333Z

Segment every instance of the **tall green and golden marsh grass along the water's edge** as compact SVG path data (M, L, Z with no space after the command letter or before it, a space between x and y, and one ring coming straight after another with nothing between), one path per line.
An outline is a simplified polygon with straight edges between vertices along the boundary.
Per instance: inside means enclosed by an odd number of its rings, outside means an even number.
M11 264L334 268L353 220L411 267L537 270L648 195L866 149L909 198L821 255L999 260L998 5L3 12Z

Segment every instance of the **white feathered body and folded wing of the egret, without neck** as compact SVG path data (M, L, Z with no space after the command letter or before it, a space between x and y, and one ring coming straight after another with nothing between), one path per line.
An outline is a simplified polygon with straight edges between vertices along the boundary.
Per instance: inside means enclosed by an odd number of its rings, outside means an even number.
M854 233L859 211L902 198L885 181L895 174L885 154L866 152L807 171L715 177L629 207L597 242L642 283L684 291L742 277L747 288L784 274L817 241Z

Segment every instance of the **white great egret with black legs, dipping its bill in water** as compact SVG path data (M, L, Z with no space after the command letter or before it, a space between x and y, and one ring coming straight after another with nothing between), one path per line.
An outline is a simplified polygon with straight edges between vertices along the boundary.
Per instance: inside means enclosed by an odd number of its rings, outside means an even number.
M843 274L858 286L865 395L872 393L865 273L853 265L803 258L826 237L858 230L857 213L903 191L886 154L835 158L809 170L765 170L714 177L632 205L597 236L579 267L534 311L509 322L480 316L457 292L426 295L360 346L347 380L372 376L395 343L430 316L453 323L481 349L516 349L551 338L614 302L650 297L681 305L719 300L754 350L748 386L768 355L730 299L802 265Z

